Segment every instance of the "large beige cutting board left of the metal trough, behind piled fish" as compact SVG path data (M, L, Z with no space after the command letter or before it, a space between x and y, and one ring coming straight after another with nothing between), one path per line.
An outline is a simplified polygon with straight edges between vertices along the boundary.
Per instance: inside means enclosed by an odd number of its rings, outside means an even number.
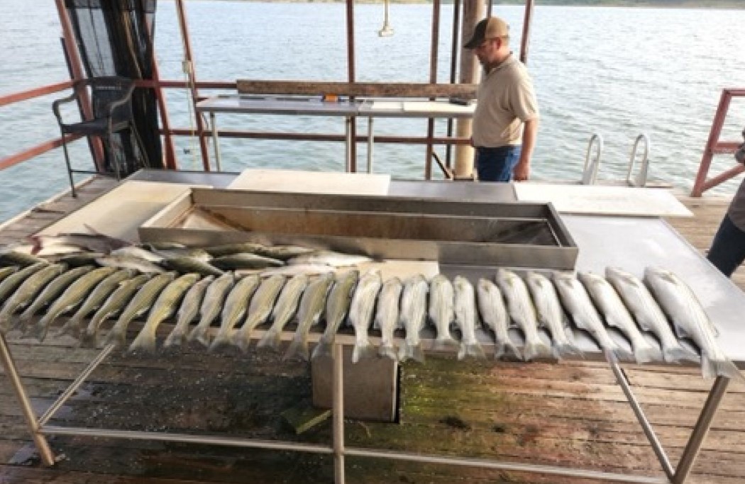
M137 228L193 186L205 185L127 180L39 234L90 233L92 229L125 241L139 241Z

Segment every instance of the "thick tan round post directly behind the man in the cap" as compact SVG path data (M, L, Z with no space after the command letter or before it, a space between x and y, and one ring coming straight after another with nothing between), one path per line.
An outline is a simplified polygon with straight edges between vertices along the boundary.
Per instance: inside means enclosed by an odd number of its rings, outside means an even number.
M464 1L463 2L463 27L460 29L461 42L465 44L471 38L473 29L479 20L484 17L484 3L481 1ZM481 74L481 66L476 60L473 51L461 48L460 50L460 82L461 83L478 83ZM471 136L472 120L458 119L455 124L455 135L459 138L469 138ZM467 178L473 173L473 153L472 147L465 144L458 144L455 150L454 176L456 178Z

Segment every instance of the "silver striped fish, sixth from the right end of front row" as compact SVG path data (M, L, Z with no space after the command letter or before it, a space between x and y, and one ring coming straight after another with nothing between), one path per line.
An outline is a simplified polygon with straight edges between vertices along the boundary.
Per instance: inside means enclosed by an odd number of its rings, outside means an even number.
M497 284L507 301L507 313L525 337L525 346L522 349L525 360L551 354L551 347L538 334L536 310L522 278L510 270L500 269L497 271Z

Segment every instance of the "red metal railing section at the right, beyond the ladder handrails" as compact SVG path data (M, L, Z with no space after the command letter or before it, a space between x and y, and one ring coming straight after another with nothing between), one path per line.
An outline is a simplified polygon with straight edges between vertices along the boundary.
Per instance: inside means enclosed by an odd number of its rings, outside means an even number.
M740 173L745 171L743 165L735 165L724 173L720 173L717 176L707 179L708 169L711 167L711 159L714 155L731 154L735 153L741 142L725 142L719 141L719 137L722 134L722 127L724 120L727 117L727 111L729 111L729 101L732 98L745 97L745 89L723 89L722 96L719 99L719 106L717 107L717 114L714 115L714 121L711 123L711 132L708 135L708 141L706 141L706 148L704 148L703 156L701 157L701 164L699 165L699 171L696 175L696 181L694 182L694 188L691 191L691 197L700 197L703 192L709 188L713 188L720 183L726 182Z

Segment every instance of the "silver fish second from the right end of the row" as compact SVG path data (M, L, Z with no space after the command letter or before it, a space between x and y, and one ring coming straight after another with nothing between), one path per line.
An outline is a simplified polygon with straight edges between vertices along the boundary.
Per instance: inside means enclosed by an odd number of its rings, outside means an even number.
M665 361L679 363L681 360L699 360L698 354L680 345L670 328L668 318L638 277L618 267L606 267L606 278L621 295L641 329L650 331L657 337Z

